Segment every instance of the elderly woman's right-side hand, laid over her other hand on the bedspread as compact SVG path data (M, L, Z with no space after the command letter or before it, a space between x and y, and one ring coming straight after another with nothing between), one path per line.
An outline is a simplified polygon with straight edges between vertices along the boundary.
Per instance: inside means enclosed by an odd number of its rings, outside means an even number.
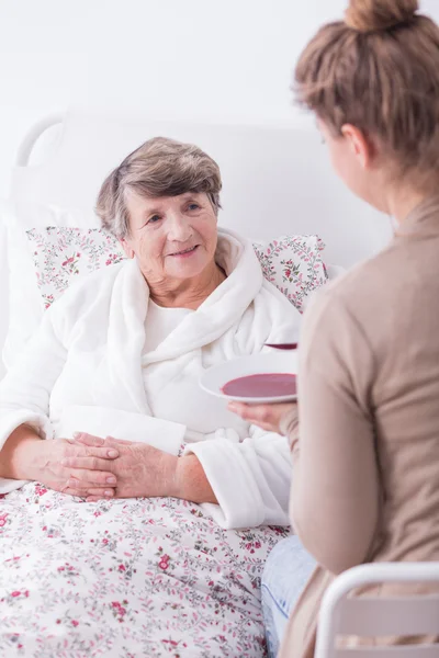
M119 457L112 461L110 468L116 477L116 498L143 498L177 495L177 463L178 457L147 445L131 441L120 441L108 436L92 436L91 434L79 434L76 444L88 449L115 449ZM90 457L76 456L67 460L70 468L79 469L105 469L105 460L93 460ZM70 486L77 486L71 481ZM80 484L78 485L80 486ZM101 495L90 494L88 502L94 502L102 498Z

